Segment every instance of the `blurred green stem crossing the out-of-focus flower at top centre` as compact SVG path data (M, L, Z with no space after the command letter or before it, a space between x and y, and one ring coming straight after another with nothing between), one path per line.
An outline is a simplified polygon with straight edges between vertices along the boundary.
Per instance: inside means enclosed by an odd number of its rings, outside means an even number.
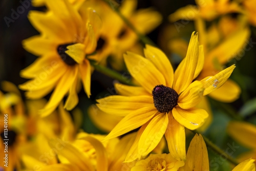
M148 45L152 45L157 47L157 45L147 36L145 36L144 34L140 33L135 27L134 25L119 11L118 8L116 8L114 6L114 4L109 1L109 0L103 0L106 4L108 4L123 20L123 22L130 27L130 29L132 29L134 31L135 34L137 34L137 36L139 37L139 39L143 42L144 45L148 44Z

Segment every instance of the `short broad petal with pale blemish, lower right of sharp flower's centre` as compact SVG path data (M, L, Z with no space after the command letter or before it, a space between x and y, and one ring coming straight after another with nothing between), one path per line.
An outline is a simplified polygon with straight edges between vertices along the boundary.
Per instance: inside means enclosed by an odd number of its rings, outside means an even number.
M204 123L208 113L203 109L191 108L184 110L176 107L173 109L173 116L187 129L196 130Z

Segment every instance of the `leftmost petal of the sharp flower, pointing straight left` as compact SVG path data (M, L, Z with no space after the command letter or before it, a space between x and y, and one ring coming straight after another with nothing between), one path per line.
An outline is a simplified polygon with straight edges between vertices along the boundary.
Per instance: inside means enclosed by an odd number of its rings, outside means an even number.
M108 96L98 99L98 108L116 116L126 116L131 112L148 107L155 108L151 96ZM155 108L156 109L156 108Z

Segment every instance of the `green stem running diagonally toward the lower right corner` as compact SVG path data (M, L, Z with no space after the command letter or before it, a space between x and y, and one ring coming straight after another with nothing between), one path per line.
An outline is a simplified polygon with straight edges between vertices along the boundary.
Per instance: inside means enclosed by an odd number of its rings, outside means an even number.
M198 131L194 130L192 131L194 134L200 134ZM202 135L202 134L201 134ZM226 154L220 147L218 147L217 145L215 145L213 142L211 142L208 138L206 138L204 135L202 135L202 137L204 138L204 142L206 144L206 146L210 147L212 149L212 151L216 152L219 155L222 155L224 157L226 157L226 159L233 163L234 165L238 165L239 162L234 159L233 157L229 156L228 154Z

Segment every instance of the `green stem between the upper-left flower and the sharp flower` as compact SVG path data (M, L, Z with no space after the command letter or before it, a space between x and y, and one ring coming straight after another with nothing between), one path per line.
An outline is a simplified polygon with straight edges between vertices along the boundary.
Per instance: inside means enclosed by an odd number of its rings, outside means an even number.
M132 82L132 80L127 78L127 77L125 77L124 75L121 75L120 73L118 73L116 71L113 71L113 70L111 70L109 68L106 68L104 66L98 65L96 63L96 61L94 61L94 60L90 60L90 64L91 64L91 66L94 67L94 69L96 71L101 72L104 75L107 75L107 76L109 76L111 78L117 79L118 81L123 82L123 83L125 83L127 85L134 86L134 83Z

